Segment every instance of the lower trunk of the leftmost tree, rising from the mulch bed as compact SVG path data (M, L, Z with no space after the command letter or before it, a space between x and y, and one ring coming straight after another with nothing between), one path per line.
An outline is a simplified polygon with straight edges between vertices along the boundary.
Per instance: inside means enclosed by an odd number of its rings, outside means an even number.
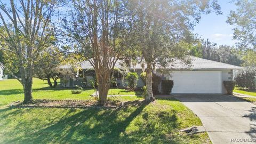
M23 103L30 103L33 101L32 99L32 78L26 79L25 83L23 84L23 90L24 90L24 101Z

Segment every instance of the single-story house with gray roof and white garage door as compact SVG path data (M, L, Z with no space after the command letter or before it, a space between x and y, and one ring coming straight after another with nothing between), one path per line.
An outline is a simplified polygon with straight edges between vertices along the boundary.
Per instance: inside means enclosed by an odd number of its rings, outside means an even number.
M81 64L82 69L93 68L88 61ZM61 66L61 68L70 68L69 66ZM121 65L117 64L116 68L122 69ZM134 66L138 75L142 73L140 65ZM233 70L242 69L242 67L228 65L226 63L191 57L191 65L187 66L181 61L175 61L170 67L170 74L157 74L162 79L171 79L174 82L172 93L227 93L223 86L223 81L233 80ZM83 71L80 72L83 75ZM86 81L89 81L90 76L81 76ZM122 78L117 79L120 87L125 86L125 82L121 81ZM63 82L63 78L62 78ZM71 77L66 81L66 86L74 86L78 84L77 77ZM138 87L144 84L139 79ZM158 86L161 90L161 84Z

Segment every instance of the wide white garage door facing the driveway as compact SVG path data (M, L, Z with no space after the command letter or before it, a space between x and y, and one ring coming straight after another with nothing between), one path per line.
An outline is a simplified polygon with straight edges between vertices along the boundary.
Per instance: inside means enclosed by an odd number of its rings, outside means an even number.
M172 93L221 93L221 71L173 71Z

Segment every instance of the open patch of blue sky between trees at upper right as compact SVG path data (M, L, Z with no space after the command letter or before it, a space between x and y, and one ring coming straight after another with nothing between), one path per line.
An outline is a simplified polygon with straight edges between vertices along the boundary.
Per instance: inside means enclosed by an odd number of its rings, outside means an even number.
M198 36L209 41L217 43L217 45L235 45L233 40L233 28L226 20L230 10L235 10L236 6L229 3L229 0L219 0L222 15L210 13L202 15L201 21L195 26L194 32Z

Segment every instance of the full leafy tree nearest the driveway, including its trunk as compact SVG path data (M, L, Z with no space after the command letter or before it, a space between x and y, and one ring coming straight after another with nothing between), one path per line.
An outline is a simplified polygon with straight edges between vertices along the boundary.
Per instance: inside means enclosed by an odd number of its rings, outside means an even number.
M186 57L188 44L185 39L201 13L219 11L216 1L146 1L133 0L134 51L139 51L146 61L146 101L154 101L152 71L156 66L166 67L174 59L189 63Z

